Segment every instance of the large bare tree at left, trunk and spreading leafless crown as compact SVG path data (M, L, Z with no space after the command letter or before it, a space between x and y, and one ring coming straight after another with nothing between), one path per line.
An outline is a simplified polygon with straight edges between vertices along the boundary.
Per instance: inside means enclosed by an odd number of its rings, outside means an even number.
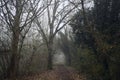
M35 17L41 14L42 0L1 0L0 20L11 32L11 61L8 77L14 80L20 59L20 51L25 35L29 31ZM32 7L31 7L32 6ZM33 13L34 11L34 13ZM19 46L20 44L20 46Z

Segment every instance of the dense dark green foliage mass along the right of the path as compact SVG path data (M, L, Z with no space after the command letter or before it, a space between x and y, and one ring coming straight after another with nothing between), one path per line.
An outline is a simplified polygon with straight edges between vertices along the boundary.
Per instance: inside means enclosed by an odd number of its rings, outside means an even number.
M70 23L80 55L77 69L92 80L119 80L119 3L119 0L95 0L93 8L85 9L85 14L79 11Z

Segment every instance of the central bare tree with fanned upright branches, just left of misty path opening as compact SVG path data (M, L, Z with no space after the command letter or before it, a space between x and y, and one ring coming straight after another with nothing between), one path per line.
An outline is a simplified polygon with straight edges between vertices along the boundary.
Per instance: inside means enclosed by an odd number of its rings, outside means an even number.
M49 6L46 9L46 27L48 28L48 35L41 25L42 22L39 18L36 19L36 24L38 26L38 31L42 35L44 42L46 43L48 49L48 69L52 69L52 55L54 53L53 41L56 34L63 29L70 21L69 15L75 9L75 7L70 6L68 2L64 0L45 0L46 5Z

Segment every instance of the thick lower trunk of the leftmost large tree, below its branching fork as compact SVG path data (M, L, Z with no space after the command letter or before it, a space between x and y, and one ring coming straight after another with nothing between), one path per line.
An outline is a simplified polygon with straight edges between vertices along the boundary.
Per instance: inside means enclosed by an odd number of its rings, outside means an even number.
M7 76L11 80L15 80L17 71L18 71L18 65L19 65L19 55L18 55L18 42L19 42L19 31L15 28L13 32L13 39L12 39L12 45L11 45L11 61L10 65L8 67Z

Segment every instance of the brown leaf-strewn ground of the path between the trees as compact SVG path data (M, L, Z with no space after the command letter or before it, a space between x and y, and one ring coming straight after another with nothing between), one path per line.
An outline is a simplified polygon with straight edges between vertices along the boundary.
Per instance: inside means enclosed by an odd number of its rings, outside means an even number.
M40 74L25 76L17 80L86 80L74 69L63 65L55 66L53 70Z

